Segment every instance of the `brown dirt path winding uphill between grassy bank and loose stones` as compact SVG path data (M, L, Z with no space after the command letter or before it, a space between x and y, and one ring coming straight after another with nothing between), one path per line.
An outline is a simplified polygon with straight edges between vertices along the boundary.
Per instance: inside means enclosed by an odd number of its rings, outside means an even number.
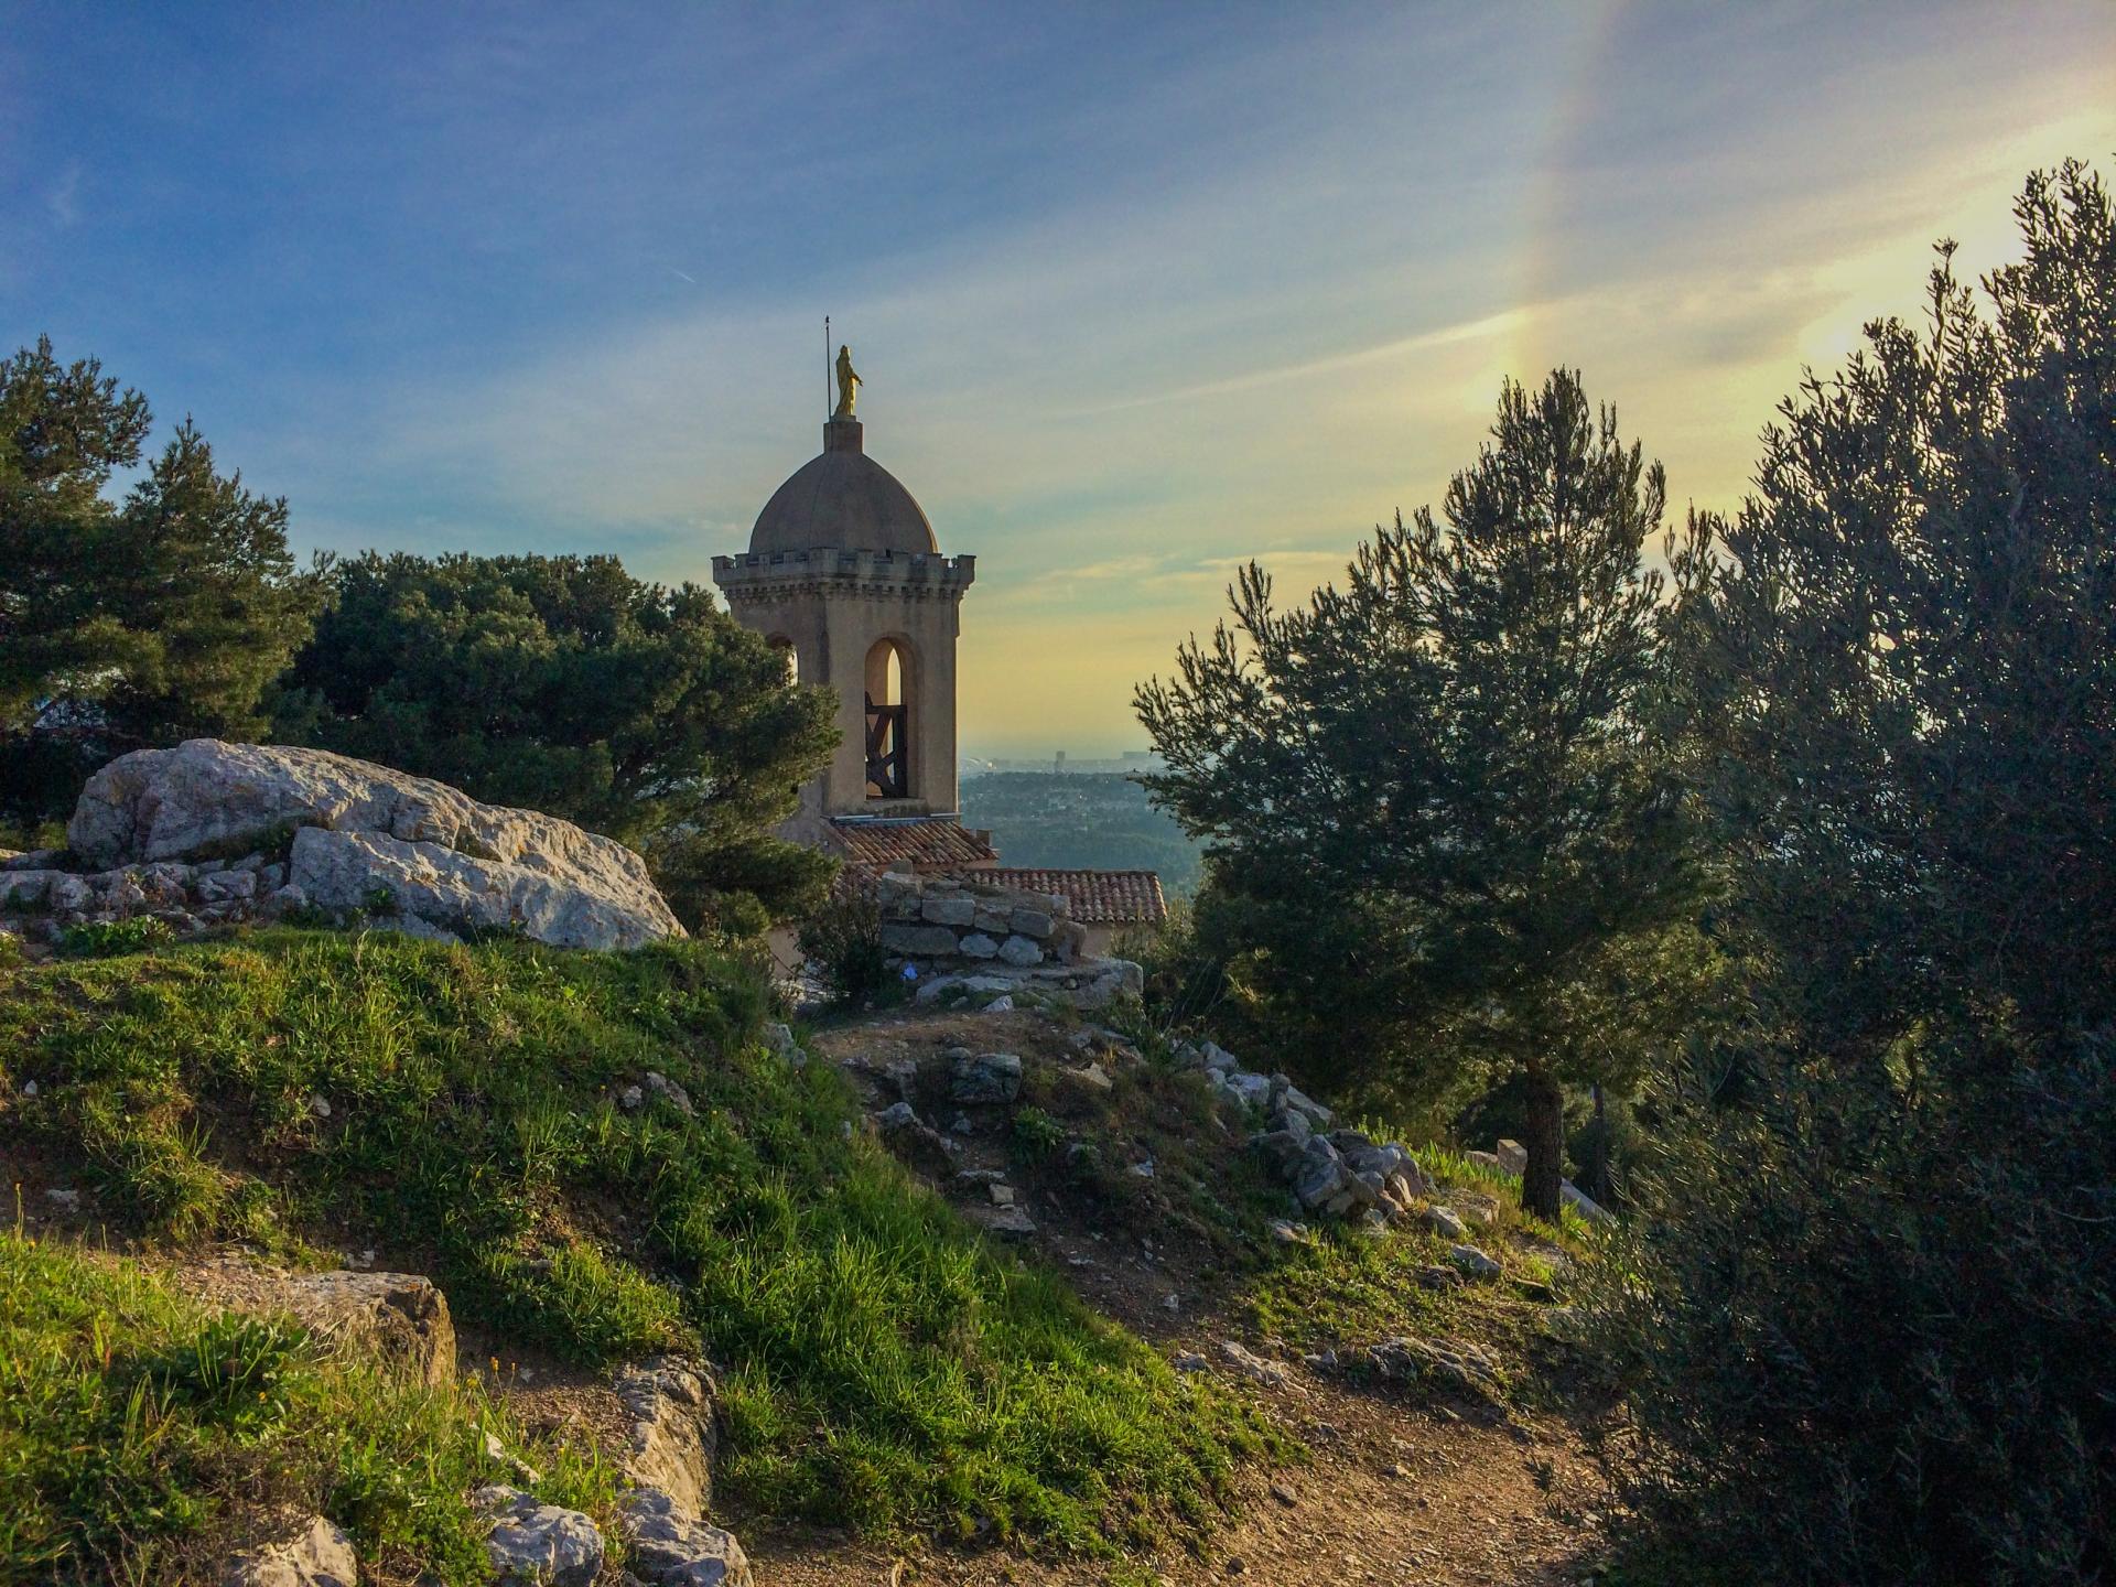
M1033 1016L899 1014L827 1033L817 1047L897 1096L889 1064L963 1043L1081 1062L1064 1035ZM954 1168L1003 1160L997 1143L965 1136ZM1221 1361L1240 1337L1215 1284L1181 1248L1136 1253L1092 1223L1039 1202L1030 1244L1096 1310L1124 1320L1170 1356ZM1170 1310L1168 1297L1181 1297ZM1291 1352L1289 1352L1291 1356ZM1604 1490L1568 1416L1524 1416L1481 1399L1441 1401L1358 1388L1280 1358L1282 1386L1232 1382L1308 1449L1299 1464L1251 1473L1229 1515L1202 1543L1170 1545L1121 1566L984 1553L882 1549L842 1534L772 1526L730 1511L760 1587L1088 1587L1160 1581L1170 1587L1244 1581L1259 1587L1386 1583L1388 1587L1570 1587L1591 1574Z

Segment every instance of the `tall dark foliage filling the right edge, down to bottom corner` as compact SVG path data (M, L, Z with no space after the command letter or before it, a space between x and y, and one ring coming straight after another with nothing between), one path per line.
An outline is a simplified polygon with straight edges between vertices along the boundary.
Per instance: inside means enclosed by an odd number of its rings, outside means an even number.
M1750 1018L1598 1310L1676 1581L2116 1570L2116 235L2080 165L2017 214L1674 563Z

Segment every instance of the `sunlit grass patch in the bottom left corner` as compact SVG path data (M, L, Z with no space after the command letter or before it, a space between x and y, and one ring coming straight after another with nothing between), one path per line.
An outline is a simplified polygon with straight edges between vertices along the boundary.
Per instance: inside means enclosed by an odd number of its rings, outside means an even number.
M216 1581L275 1511L336 1519L368 1568L487 1581L466 1494L482 1428L603 1519L614 1477L472 1384L413 1388L288 1320L207 1316L138 1265L0 1229L0 1581Z

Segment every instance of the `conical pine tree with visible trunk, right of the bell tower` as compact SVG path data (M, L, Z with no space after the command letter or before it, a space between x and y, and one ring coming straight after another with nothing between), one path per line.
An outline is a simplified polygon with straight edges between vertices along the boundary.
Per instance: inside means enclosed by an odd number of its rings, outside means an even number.
M1566 370L1509 383L1492 434L1447 527L1399 518L1306 607L1251 565L1234 628L1136 707L1147 787L1208 840L1232 1014L1339 1094L1526 1075L1524 1193L1555 1215L1559 1086L1631 1081L1708 954L1672 935L1697 878L1655 734L1661 470Z

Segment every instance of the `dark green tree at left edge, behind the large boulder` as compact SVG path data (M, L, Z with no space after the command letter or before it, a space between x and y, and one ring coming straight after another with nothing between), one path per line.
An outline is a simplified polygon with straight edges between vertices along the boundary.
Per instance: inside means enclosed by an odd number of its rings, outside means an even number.
M61 813L123 749L254 736L258 700L322 599L286 501L222 476L186 419L123 504L146 398L40 339L0 360L0 798Z

